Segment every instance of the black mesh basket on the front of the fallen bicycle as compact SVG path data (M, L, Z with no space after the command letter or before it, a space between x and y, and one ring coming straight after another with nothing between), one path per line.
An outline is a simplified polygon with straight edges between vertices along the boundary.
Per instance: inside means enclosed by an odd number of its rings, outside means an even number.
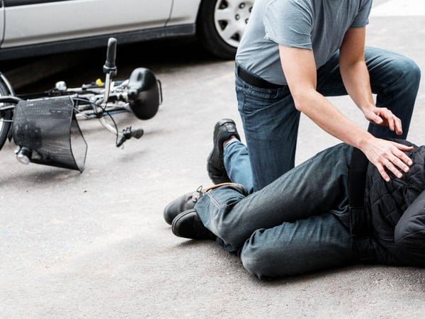
M84 170L87 143L69 96L20 101L13 115L13 140L30 150L30 162Z

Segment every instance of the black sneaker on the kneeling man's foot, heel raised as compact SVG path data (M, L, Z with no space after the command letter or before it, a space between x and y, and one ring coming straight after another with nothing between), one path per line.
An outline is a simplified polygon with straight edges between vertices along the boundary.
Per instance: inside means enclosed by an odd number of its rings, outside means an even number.
M215 124L212 138L213 147L207 161L208 175L214 184L230 181L225 169L225 162L223 161L223 142L232 136L241 140L233 120L225 118Z

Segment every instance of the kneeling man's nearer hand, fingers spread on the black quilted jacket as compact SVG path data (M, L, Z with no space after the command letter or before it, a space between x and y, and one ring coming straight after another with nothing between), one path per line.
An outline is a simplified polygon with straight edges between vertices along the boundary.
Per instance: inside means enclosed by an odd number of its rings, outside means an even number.
M362 147L361 150L369 161L378 168L378 172L385 181L390 181L390 176L385 171L385 168L398 178L403 177L400 169L405 173L409 172L409 166L413 162L404 152L412 151L412 146L373 137L365 144L365 147Z

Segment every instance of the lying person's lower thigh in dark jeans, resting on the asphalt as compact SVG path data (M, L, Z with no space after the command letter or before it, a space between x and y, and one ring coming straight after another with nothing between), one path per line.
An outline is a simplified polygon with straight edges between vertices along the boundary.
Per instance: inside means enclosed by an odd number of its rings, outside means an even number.
M245 269L259 279L342 267L357 256L348 228L333 213L256 230L239 252Z

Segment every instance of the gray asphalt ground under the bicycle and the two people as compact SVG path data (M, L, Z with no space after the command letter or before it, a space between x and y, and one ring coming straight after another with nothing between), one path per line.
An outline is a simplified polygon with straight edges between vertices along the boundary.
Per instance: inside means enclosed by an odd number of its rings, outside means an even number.
M392 11L375 8L368 45L412 57L425 70L423 10L404 15L408 8L396 6L410 1L376 2ZM214 242L172 235L162 210L210 184L205 160L215 122L241 124L233 62L151 67L163 83L159 113L119 120L142 125L145 136L116 149L96 121L82 121L83 174L24 167L12 145L0 152L1 318L424 317L422 269L358 265L262 282ZM366 125L349 99L332 101ZM425 143L424 123L422 82L409 140ZM297 163L336 142L302 117Z

